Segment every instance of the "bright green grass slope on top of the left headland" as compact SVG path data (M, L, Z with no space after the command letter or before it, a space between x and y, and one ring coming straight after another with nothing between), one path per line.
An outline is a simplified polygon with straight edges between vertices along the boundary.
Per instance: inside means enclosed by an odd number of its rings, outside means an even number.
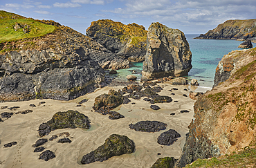
M0 11L0 17L0 43L30 37L41 37L55 30L55 26L42 24L34 19L27 19L3 10ZM25 34L22 30L23 28L19 28L17 31L15 31L13 27L15 26L16 22L21 25L26 24L30 26L30 32Z

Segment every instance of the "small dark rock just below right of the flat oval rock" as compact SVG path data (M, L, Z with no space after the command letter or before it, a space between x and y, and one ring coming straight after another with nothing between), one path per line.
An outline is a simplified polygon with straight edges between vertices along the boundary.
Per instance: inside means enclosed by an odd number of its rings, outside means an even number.
M177 133L174 129L169 129L168 131L163 132L160 136L158 136L157 142L158 144L170 145L180 137L181 134Z

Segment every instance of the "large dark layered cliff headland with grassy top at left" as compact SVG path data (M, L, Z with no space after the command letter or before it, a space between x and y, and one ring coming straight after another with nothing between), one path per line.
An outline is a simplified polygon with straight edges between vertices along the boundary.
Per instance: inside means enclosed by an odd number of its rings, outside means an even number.
M24 19L4 11L0 21L8 24L1 28L7 35L0 38L2 102L36 97L71 100L104 84L104 70L91 57L113 54L93 39L54 21ZM52 31L41 33L46 26Z

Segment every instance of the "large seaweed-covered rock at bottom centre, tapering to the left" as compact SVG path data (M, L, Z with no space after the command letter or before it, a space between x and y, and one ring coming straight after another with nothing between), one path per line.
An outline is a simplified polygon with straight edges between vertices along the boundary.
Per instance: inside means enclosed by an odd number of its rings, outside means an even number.
M127 136L120 136L117 134L112 134L107 138L104 144L95 151L84 155L82 157L82 164L89 164L96 161L104 161L112 156L120 156L125 153L133 153L135 150L135 144Z

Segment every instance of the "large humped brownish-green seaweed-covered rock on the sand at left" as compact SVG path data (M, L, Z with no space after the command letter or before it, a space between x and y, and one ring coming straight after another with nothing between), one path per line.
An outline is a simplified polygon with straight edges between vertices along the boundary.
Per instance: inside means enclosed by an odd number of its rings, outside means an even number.
M78 111L57 112L51 120L40 124L39 136L45 136L55 129L89 129L90 123L89 118Z

